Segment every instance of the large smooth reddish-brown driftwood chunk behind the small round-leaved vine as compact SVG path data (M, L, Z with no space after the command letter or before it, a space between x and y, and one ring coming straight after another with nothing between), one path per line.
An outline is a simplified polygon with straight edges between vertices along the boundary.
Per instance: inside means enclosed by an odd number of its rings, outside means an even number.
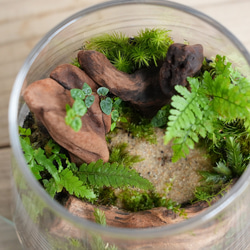
M72 106L74 102L70 91L55 80L47 78L32 83L25 89L23 97L30 110L59 145L82 162L90 163L98 159L108 161L109 150L105 134L110 128L111 118L109 117L109 122L103 118L105 114L100 109L97 94L95 102L81 118L83 126L79 132L65 123L65 106Z

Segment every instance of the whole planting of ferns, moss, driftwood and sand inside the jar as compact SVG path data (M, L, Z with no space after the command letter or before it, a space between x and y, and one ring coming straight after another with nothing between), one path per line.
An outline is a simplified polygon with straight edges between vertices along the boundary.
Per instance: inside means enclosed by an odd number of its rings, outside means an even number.
M84 41L71 64L23 96L30 113L20 141L34 177L70 212L108 226L186 220L193 204L206 208L227 192L250 159L250 81L224 55L207 58L201 44L175 43L166 29ZM174 178L153 171L183 166L195 150L206 168L181 203L168 196ZM162 208L176 217L155 219ZM144 210L144 224L133 223Z

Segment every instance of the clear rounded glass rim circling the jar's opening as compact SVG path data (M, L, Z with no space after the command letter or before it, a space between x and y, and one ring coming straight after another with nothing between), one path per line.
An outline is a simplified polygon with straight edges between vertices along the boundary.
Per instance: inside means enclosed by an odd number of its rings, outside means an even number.
M36 57L39 55L40 51L50 42L50 40L61 30L69 26L70 24L76 22L82 16L91 14L98 10L111 8L115 6L123 5L133 5L133 4L142 4L142 5L155 5L168 7L176 9L187 14L193 15L203 22L213 26L217 31L223 33L241 52L242 56L245 57L247 63L250 65L250 55L244 45L223 25L214 20L213 18L207 16L206 14L195 10L191 7L188 7L183 4L166 1L166 0L113 0L107 1L100 4L93 5L89 8L83 9L70 17L64 19L53 29L51 29L33 48L28 57L26 58L23 66L21 67L19 73L16 76L16 80L12 87L12 92L10 95L9 101L9 136L10 143L12 147L12 154L16 159L18 159L18 165L24 176L28 181L29 186L36 192L39 197L42 197L43 201L51 208L53 211L56 211L61 218L64 218L73 224L79 226L79 228L86 228L88 230L96 231L101 234L112 234L113 237L125 238L129 237L130 239L145 239L145 238L158 238L162 236L171 236L177 235L180 233L187 232L192 230L195 227L209 221L214 218L224 209L226 209L233 201L237 199L244 192L244 190L250 185L250 168L247 167L245 173L240 177L236 184L233 185L229 193L225 194L222 198L219 199L214 205L203 211L202 213L176 224L166 225L162 227L153 227L153 228L142 228L142 229L133 229L133 228L118 228L118 227L102 227L94 222L89 220L74 216L66 208L60 205L58 202L54 201L47 192L42 188L39 182L33 177L31 171L29 170L27 163L25 161L18 133L18 101L21 94L21 89L30 69L31 65L35 61Z

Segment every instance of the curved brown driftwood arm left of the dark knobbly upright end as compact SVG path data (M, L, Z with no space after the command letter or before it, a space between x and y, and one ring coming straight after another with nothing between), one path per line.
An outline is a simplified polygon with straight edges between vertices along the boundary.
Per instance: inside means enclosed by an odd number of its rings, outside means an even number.
M130 102L144 115L153 116L169 101L159 86L158 68L127 74L117 70L102 53L90 50L80 51L78 60L81 68L97 84Z

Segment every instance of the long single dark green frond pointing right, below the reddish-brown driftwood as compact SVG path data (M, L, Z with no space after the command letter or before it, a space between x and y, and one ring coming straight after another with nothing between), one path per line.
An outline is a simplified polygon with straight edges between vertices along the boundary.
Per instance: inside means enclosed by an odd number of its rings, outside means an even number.
M118 163L103 163L102 160L90 164L82 164L78 171L79 179L84 184L95 187L138 187L152 189L149 180L141 177L134 169L124 167Z

